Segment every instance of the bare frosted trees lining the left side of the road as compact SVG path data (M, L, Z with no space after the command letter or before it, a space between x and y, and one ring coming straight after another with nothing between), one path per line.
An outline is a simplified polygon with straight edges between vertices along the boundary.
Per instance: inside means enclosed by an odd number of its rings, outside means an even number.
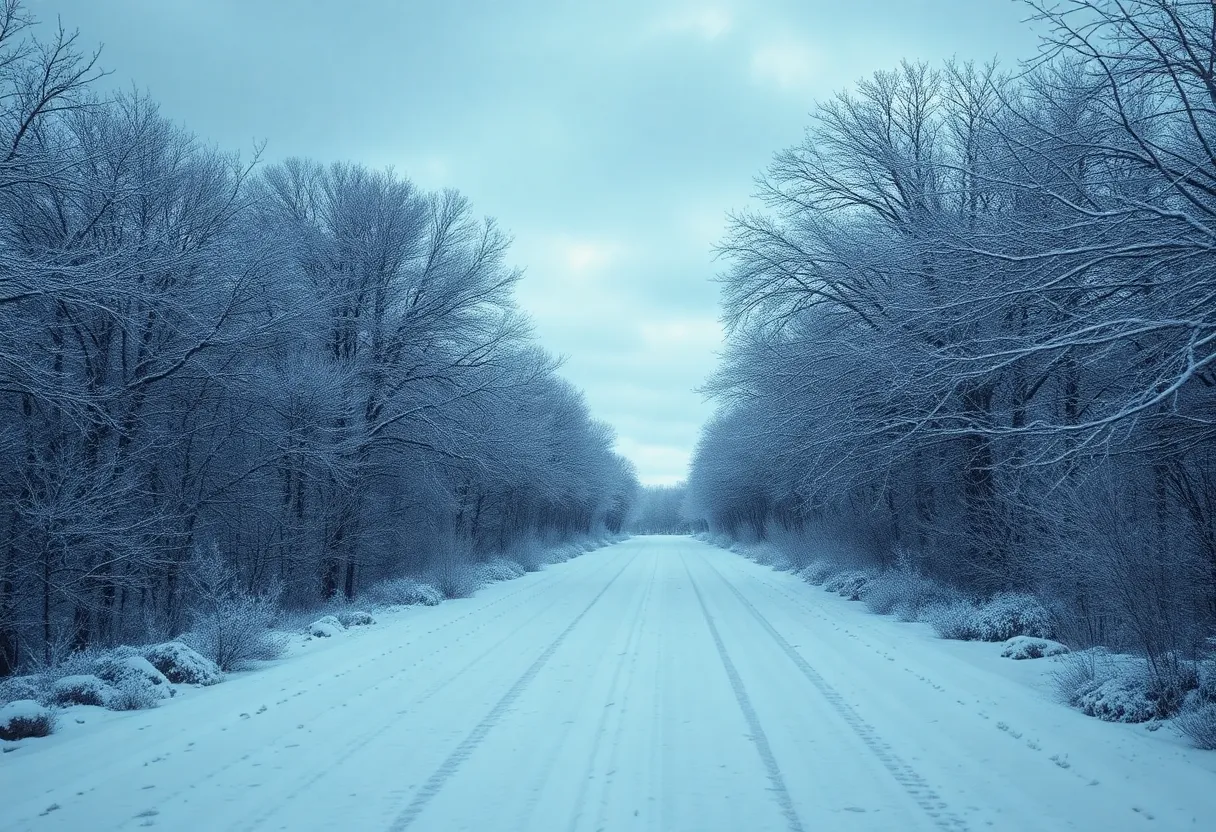
M201 551L305 606L620 529L465 197L242 161L32 23L0 4L0 675L180 633Z

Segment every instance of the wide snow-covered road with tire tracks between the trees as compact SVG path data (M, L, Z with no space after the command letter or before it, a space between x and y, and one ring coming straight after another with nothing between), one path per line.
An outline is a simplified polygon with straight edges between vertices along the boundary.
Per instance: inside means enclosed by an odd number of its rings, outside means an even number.
M907 631L635 538L27 742L0 828L1212 828L1211 770Z

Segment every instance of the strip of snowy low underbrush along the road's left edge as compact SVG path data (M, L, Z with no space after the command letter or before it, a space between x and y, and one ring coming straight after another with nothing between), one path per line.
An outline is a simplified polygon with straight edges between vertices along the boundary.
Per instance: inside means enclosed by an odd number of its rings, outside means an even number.
M561 563L625 540L601 534L544 545L533 541L482 562L449 558L424 578L392 578L372 584L354 602L283 611L274 595L233 589L218 566L207 577L204 602L191 629L168 642L72 653L33 673L0 679L0 741L45 737L69 715L84 723L97 710L154 708L187 688L202 688L225 674L257 669L261 662L309 650L310 643L340 639L376 624L372 611L435 606L468 597L492 583L512 580L546 564Z

